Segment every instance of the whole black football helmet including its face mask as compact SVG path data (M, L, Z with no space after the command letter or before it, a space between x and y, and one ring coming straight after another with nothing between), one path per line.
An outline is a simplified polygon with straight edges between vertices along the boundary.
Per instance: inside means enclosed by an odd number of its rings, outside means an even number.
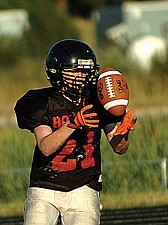
M64 39L55 43L46 58L47 78L51 85L75 100L89 93L89 87L96 84L99 64L92 48L86 43L76 39ZM68 85L68 80L63 76L65 71L81 71L87 73L84 85L73 88ZM73 80L74 82L74 80ZM74 86L76 84L74 83Z

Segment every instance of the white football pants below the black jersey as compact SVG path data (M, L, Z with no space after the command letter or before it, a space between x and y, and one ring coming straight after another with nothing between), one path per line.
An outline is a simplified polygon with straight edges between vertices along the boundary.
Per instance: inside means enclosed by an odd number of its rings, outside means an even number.
M24 225L100 224L99 192L83 186L69 192L29 188L25 201Z

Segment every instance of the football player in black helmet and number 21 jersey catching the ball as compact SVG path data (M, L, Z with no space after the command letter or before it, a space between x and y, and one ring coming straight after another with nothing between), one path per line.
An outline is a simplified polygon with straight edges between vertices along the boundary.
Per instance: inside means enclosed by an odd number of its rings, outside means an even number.
M123 154L135 121L127 118L131 126L114 135L127 114L116 117L99 103L99 69L90 46L61 40L46 58L51 87L29 90L15 105L19 128L30 130L37 143L24 225L55 225L59 215L65 225L100 223L101 129L112 149Z

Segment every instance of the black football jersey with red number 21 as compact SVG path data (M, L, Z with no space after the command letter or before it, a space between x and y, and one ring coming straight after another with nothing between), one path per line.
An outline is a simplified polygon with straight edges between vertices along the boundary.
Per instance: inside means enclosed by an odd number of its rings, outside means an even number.
M89 103L93 104L98 114L99 127L76 129L64 145L50 156L45 156L36 145L30 187L70 191L89 185L101 190L101 128L121 121L122 117L109 114L95 96L89 99ZM31 132L44 124L55 131L69 120L73 112L80 109L52 87L28 91L15 106L18 126Z

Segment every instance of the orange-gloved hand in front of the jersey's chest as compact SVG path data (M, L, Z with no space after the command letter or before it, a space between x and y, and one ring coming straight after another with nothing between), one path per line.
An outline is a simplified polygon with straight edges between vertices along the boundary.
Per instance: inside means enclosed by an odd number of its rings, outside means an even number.
M92 107L92 104L86 105L77 112L75 117L70 117L70 124L68 124L68 127L73 129L83 126L98 127L99 120L97 119L97 113L88 111L92 109Z

